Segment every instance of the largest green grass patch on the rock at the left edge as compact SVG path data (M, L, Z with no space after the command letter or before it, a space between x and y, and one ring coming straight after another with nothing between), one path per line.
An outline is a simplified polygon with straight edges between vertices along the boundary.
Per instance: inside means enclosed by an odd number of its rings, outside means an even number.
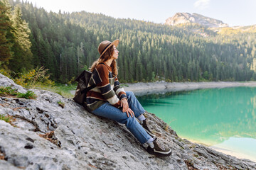
M17 98L35 99L36 94L33 91L27 91L26 94L19 93L17 89L11 89L11 86L0 86L0 96L14 96Z

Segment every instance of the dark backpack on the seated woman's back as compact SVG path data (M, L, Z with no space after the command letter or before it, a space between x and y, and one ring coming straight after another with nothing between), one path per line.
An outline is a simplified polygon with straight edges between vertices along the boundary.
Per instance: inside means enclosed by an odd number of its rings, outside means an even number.
M86 108L85 98L87 91L90 91L91 89L95 88L95 84L93 84L90 87L87 87L89 84L90 78L92 77L92 72L89 72L87 70L84 70L76 79L75 81L78 81L77 89L75 90L75 96L73 100L76 103L79 103L80 105L84 106Z

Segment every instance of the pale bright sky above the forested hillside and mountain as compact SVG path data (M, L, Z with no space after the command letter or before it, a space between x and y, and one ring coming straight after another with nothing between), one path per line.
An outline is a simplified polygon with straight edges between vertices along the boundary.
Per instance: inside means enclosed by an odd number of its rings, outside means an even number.
M114 18L165 23L178 12L199 13L229 26L256 24L256 0L24 0L46 11L87 11Z

